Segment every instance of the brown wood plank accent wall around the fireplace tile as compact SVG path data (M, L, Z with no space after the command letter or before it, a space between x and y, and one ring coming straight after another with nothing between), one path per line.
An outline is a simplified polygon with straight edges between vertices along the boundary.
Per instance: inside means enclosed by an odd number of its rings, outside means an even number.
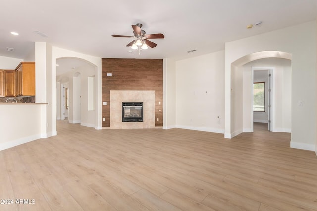
M102 59L102 101L107 102L102 106L103 127L110 126L110 90L154 90L155 126L163 126L162 59Z

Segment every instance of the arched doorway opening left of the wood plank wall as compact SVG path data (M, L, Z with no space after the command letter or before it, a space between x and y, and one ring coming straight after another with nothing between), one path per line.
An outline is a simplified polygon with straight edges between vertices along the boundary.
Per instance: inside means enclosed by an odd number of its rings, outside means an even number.
M97 92L97 86L94 83L93 87L89 86L89 82L93 78L95 80L96 66L92 65L86 60L64 57L56 59L56 85L57 90L57 119L58 116L63 115L63 107L65 106L65 101L63 101L65 95L62 90L64 89L63 80L68 79L68 122L69 123L80 123L81 125L87 127L97 128L97 103L94 103L93 108L88 108L89 106L89 95L93 92L94 96ZM89 91L88 91L89 89ZM95 100L95 98L93 98ZM61 115L58 115L61 113Z

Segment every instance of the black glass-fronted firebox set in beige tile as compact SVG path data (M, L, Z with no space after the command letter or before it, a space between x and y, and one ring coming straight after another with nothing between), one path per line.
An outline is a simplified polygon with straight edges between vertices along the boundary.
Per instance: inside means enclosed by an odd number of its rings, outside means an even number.
M122 122L143 122L143 102L123 102Z

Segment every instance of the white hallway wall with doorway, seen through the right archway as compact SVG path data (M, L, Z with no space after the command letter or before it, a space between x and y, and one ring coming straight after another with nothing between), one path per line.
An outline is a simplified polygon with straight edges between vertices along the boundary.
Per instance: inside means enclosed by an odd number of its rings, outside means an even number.
M272 132L291 132L291 60L281 58L264 58L249 62L243 65L243 127L244 131L252 128L250 125L251 111L251 69L252 68L273 68L272 72ZM265 81L266 90L268 90L268 75L260 74L258 81L256 79L259 70L254 71L254 82ZM253 119L255 122L268 120L268 94L265 96L265 112L254 112Z

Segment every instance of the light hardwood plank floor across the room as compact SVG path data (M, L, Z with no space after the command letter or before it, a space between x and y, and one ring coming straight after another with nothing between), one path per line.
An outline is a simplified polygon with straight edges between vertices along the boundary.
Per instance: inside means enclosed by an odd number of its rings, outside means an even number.
M0 199L14 201L0 211L317 210L315 153L265 124L229 140L57 122L57 136L0 151Z

